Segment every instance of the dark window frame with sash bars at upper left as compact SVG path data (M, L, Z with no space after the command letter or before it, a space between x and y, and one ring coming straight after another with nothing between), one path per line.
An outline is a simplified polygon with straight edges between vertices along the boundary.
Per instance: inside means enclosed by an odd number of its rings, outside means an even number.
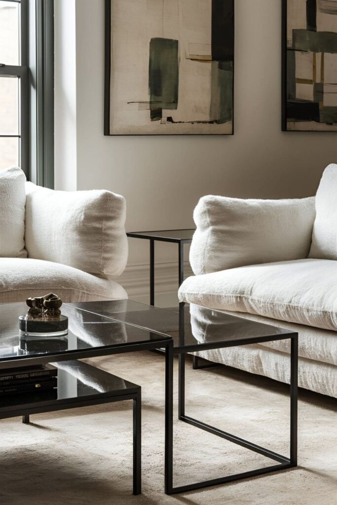
M0 62L0 77L19 78L19 165L28 180L54 188L54 0L6 0L20 6L20 64Z

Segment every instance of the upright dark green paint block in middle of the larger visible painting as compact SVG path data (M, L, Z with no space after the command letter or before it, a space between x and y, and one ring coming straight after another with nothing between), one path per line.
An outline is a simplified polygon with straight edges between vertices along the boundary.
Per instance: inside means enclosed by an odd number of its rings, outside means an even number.
M159 121L163 109L177 109L178 86L178 40L152 38L149 61L151 121Z

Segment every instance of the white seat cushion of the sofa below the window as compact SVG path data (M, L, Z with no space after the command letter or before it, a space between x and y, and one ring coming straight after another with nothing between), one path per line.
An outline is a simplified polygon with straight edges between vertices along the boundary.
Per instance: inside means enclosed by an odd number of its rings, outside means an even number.
M30 258L0 258L0 302L24 301L51 291L63 301L127 298L117 282L67 265Z

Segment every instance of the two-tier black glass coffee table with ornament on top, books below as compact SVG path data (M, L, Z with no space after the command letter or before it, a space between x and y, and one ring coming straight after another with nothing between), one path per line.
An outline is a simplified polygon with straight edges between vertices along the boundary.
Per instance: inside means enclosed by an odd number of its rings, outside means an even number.
M127 307L126 300L124 303ZM119 302L119 307L121 304L123 301ZM91 309L90 304L87 304L86 308ZM57 362L58 388L57 391L51 389L24 395L1 396L0 419L23 416L23 422L27 423L31 414L110 401L134 400L133 492L138 494L141 476L140 387L74 360L164 347L166 349L165 479L170 479L173 420L172 338L156 330L139 328L66 304L62 306L62 313L69 318L68 335L52 338L22 337L19 335L18 317L26 312L25 303L0 304L0 371ZM70 376L73 376L72 392L66 387L71 382Z

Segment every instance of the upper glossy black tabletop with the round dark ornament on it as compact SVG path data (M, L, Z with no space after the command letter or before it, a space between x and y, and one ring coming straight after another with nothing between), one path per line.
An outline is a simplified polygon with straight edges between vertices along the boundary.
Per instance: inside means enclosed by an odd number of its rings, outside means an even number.
M123 301L126 308L127 300L119 300L119 307L122 308ZM87 305L86 308L88 307L91 306ZM125 324L122 320L113 320L103 314L94 314L68 304L62 306L62 314L69 319L66 336L24 337L19 335L18 317L26 314L27 309L24 302L0 304L0 365L3 361L48 355L57 359L58 355L74 351L126 346L169 338L155 333L155 330Z

